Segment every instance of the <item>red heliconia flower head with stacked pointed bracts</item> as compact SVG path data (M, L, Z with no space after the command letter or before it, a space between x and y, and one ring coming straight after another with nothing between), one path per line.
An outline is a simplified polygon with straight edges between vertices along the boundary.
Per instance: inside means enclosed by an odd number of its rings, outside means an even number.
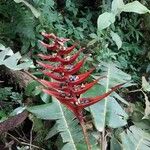
M43 73L54 80L53 82L40 80L40 82L47 87L47 89L43 89L43 91L57 98L75 114L80 122L82 122L82 111L85 107L104 99L110 93L121 87L122 84L111 88L109 92L104 93L103 95L81 98L81 94L89 90L99 81L99 79L97 79L90 83L84 83L95 68L92 68L83 74L78 74L78 71L87 58L84 57L79 62L76 62L83 49L80 49L76 54L70 56L69 54L76 48L76 44L66 47L64 43L69 41L69 39L59 38L54 34L42 33L42 35L44 38L51 40L52 44L46 44L43 41L41 41L41 44L48 50L54 52L54 54L38 54L38 56L44 61L57 63L57 65L51 65L45 62L38 62L38 64L44 68Z

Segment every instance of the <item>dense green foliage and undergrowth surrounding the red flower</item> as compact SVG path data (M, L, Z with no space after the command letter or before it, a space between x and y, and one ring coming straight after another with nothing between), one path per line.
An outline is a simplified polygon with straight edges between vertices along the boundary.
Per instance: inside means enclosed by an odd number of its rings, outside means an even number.
M1 1L0 149L86 150L87 138L92 150L150 149L148 8L148 0ZM84 109L84 127L41 90L39 78L48 78L37 54L51 54L43 32L71 39L65 47L77 43L77 52L85 47L79 74L96 68L88 82L105 76L81 99L126 83Z

